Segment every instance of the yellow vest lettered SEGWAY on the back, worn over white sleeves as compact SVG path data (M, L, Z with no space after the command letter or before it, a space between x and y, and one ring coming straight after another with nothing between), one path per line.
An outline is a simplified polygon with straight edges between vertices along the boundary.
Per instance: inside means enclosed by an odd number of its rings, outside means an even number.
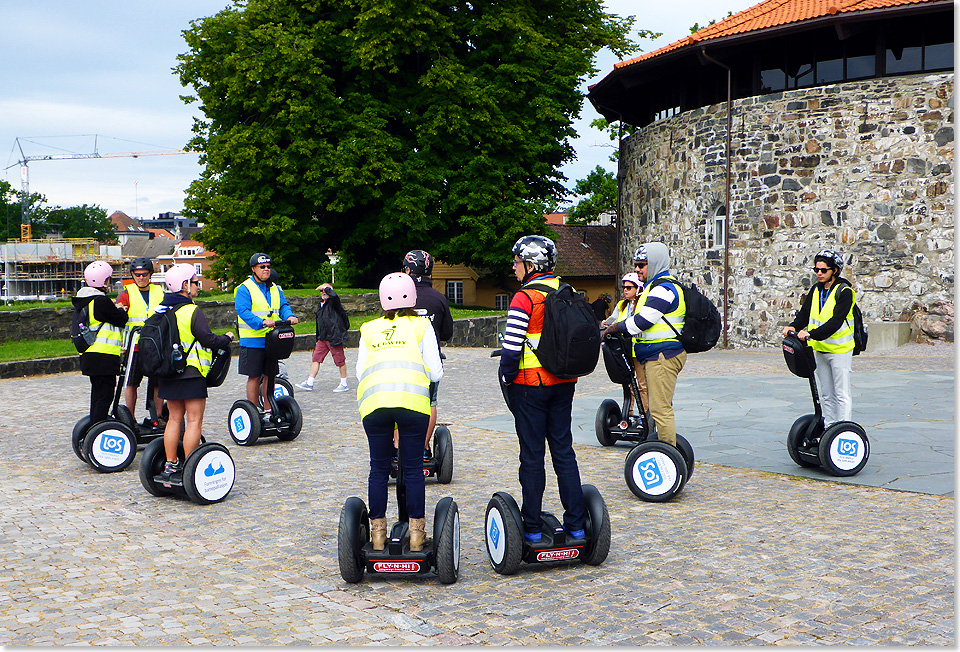
M430 378L420 353L428 328L423 317L381 317L360 327L367 353L357 385L361 419L382 407L430 414Z

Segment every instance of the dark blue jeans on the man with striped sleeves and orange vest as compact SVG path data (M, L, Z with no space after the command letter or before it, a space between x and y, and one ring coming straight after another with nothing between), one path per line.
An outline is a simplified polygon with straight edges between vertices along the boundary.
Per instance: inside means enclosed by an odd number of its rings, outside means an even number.
M523 489L523 528L540 531L543 491L547 484L544 467L546 447L550 446L553 470L557 474L563 526L582 530L586 522L580 469L573 452L570 411L576 383L559 385L517 385L507 387L517 437L520 440L520 486Z

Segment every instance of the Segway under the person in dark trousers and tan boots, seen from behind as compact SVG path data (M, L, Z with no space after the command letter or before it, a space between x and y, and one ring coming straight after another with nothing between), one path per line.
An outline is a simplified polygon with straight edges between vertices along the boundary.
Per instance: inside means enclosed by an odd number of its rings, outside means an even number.
M433 513L433 538L423 550L410 550L406 487L402 468L397 476L399 520L387 534L383 550L374 550L370 539L370 517L362 499L352 496L340 510L337 559L340 576L351 584L370 573L422 575L435 569L441 584L453 584L460 577L460 510L450 496L437 503Z

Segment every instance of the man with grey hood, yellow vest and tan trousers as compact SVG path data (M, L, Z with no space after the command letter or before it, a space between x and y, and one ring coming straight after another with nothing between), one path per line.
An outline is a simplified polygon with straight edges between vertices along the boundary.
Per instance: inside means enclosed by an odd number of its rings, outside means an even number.
M676 446L673 395L687 361L677 333L683 330L687 306L677 279L670 275L670 250L665 244L640 245L633 254L633 264L644 284L637 309L633 317L608 326L604 334L617 330L637 338L633 347L634 359L640 363L637 379L647 386L647 404L657 426L657 439Z

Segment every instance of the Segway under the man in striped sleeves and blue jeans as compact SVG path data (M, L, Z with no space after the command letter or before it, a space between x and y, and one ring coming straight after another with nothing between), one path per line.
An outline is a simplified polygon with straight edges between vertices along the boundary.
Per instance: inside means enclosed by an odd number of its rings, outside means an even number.
M587 508L584 538L573 539L556 516L540 513L539 543L523 536L523 518L513 496L505 491L493 494L487 503L485 533L490 565L501 575L513 575L521 562L528 564L579 560L599 566L610 552L610 516L597 488L583 485Z

